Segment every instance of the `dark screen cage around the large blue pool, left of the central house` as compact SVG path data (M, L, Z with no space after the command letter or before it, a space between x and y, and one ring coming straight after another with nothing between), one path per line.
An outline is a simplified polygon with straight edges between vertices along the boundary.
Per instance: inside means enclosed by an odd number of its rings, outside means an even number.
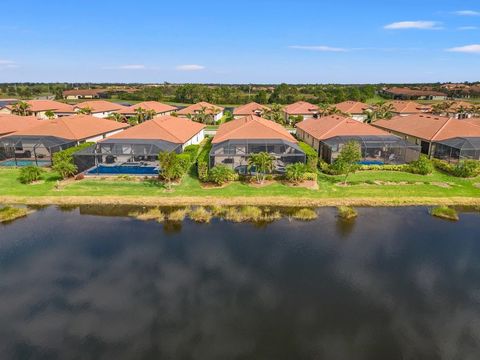
M158 165L158 154L165 151L180 153L182 145L163 140L107 139L76 152L73 159L83 172L99 164Z

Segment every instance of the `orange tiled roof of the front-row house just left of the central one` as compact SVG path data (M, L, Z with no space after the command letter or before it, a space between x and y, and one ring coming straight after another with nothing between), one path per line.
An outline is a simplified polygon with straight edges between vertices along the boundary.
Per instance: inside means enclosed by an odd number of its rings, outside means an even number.
M186 118L158 116L112 135L109 139L163 140L184 144L203 128L205 125Z

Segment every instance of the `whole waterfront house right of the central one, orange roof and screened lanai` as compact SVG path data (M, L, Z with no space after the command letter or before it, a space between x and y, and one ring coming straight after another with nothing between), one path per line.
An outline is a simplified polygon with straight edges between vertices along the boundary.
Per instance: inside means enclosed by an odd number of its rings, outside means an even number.
M331 115L307 119L297 124L297 138L332 163L342 147L354 141L360 145L363 164L404 164L418 159L419 146L398 136L345 116Z

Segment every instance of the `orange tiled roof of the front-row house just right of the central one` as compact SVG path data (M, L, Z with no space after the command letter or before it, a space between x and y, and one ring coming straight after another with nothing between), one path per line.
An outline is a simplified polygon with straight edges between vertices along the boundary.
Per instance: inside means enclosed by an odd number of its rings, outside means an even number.
M297 128L317 140L326 140L335 136L390 135L388 132L371 125L339 115L325 116L320 119L306 119L298 123Z

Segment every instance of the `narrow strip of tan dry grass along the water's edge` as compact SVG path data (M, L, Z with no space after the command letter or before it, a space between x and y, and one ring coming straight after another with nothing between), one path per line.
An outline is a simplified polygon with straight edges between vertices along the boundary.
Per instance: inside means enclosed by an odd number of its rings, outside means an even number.
M480 206L480 197L364 197L364 198L295 198L270 197L155 197L155 196L0 196L3 205L131 205L131 206Z

